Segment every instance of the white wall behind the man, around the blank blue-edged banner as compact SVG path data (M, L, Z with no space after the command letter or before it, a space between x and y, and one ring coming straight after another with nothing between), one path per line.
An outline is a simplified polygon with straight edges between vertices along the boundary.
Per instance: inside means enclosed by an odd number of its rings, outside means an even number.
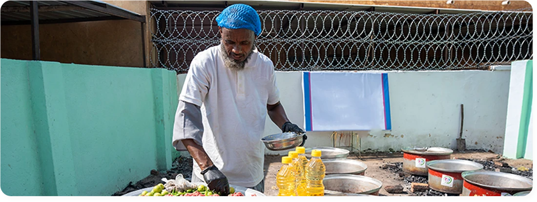
M178 76L178 93L184 74ZM281 103L303 127L302 73L277 72ZM468 149L503 151L510 71L389 71L391 131L359 131L361 149L400 151L406 146L455 149L464 104ZM265 135L281 130L267 117ZM386 134L388 133L388 134ZM304 146L332 146L331 132L308 132ZM336 144L337 145L337 144ZM343 146L343 145L342 145ZM286 154L266 149L268 154Z

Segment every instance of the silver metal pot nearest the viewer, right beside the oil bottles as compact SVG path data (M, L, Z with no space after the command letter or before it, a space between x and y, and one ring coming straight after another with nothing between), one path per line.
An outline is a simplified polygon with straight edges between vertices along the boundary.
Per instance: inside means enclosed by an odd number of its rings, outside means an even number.
M382 188L382 182L378 179L352 174L326 175L323 179L323 185L325 190L374 196L379 196L379 191Z

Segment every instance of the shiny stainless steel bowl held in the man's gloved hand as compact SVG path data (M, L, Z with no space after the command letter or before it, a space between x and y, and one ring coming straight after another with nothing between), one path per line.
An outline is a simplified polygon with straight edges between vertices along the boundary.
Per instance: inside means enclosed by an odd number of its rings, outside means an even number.
M270 136L265 136L261 139L261 141L263 141L267 149L270 149L272 151L282 151L300 146L302 144L302 141L304 141L304 134L306 133L277 133L271 134Z

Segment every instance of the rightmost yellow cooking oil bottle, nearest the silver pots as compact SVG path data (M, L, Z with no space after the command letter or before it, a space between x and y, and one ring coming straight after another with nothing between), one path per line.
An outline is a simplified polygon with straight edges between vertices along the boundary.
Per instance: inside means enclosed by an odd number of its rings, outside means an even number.
M321 151L313 149L306 164L306 196L324 196L323 179L326 168L321 160Z

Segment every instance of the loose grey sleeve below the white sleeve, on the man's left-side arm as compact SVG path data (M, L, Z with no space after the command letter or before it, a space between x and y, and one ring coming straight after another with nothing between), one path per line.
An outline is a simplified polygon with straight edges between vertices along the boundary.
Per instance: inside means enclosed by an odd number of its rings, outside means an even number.
M173 125L173 147L177 151L186 151L181 142L183 139L194 139L195 143L202 145L203 132L200 107L179 100L175 114L175 124Z

